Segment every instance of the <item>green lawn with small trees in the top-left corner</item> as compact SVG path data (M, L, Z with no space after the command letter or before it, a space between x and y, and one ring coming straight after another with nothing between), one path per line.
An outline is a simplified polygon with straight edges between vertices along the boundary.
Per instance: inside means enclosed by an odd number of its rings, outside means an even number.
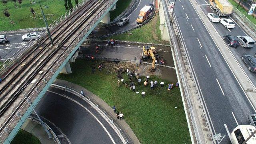
M1 14L0 14L0 31L4 30L17 30L23 28L38 28L45 27L44 20L34 19L32 13L30 12L30 7L33 8L37 14L36 17L42 17L39 1L41 2L42 9L44 10L44 14L53 14L51 18L49 15L46 15L46 18L56 20L64 13L66 13L66 9L64 7L64 0L33 0L36 4L30 4L30 0L23 0L22 4L18 4L19 8L15 8L13 2L8 0L7 5L3 6L2 2L1 6ZM75 6L75 1L72 1L72 5ZM80 2L82 0L78 0ZM49 8L45 8L44 5ZM8 12L10 13L10 18L15 22L15 24L10 24L10 20L4 16L2 10L8 7ZM20 8L21 7L21 8ZM52 20L48 20L48 24L52 23Z

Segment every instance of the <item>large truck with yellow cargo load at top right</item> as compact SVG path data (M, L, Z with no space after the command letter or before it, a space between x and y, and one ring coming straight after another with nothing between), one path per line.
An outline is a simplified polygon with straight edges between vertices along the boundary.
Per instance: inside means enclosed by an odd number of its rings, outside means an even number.
M227 0L209 0L210 5L218 16L229 16L232 13L233 6Z

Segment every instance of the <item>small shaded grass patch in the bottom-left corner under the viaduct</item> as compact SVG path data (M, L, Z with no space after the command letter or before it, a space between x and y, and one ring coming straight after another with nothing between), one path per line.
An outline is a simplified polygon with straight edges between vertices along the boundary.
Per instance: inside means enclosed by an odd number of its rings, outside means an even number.
M40 140L26 130L20 129L11 144L41 144Z

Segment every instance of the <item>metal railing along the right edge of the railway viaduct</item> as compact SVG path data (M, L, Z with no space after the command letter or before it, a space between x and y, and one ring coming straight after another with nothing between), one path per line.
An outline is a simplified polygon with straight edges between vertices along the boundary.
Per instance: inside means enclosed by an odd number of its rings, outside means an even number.
M105 7L98 12L98 14L88 22L88 25L82 30L82 32L72 40L72 42L64 49L64 51L56 58L56 60L50 65L50 67L45 71L45 73L38 79L36 84L33 86L32 90L30 90L30 94L27 96L28 100L33 102L36 98L38 98L38 94L42 89L46 86L47 82L52 78L54 72L56 72L59 66L66 60L69 56L70 52L74 50L75 46L82 40L84 35L89 32L90 28L94 25L95 22L108 10L108 8L115 2L116 0L108 0L108 3ZM86 0L84 0L86 2ZM20 104L17 106L15 110L13 110L12 114L9 118L6 118L6 122L0 128L0 143L2 143L10 134L11 130L14 129L21 116L27 112L29 105L26 102L26 98L23 98Z

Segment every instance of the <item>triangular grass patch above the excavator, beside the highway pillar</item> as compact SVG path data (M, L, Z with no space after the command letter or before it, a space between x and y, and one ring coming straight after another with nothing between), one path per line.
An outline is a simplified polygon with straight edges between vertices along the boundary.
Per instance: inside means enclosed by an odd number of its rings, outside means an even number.
M133 42L149 42L149 43L157 43L157 44L170 44L167 41L161 40L161 31L159 30L160 20L159 15L155 15L154 18L148 24L126 32L124 34L118 34L115 36L111 36L108 38L104 38L105 40L110 40L111 38L114 40L125 40L125 41L133 41ZM132 35L128 36L128 33L132 33Z

